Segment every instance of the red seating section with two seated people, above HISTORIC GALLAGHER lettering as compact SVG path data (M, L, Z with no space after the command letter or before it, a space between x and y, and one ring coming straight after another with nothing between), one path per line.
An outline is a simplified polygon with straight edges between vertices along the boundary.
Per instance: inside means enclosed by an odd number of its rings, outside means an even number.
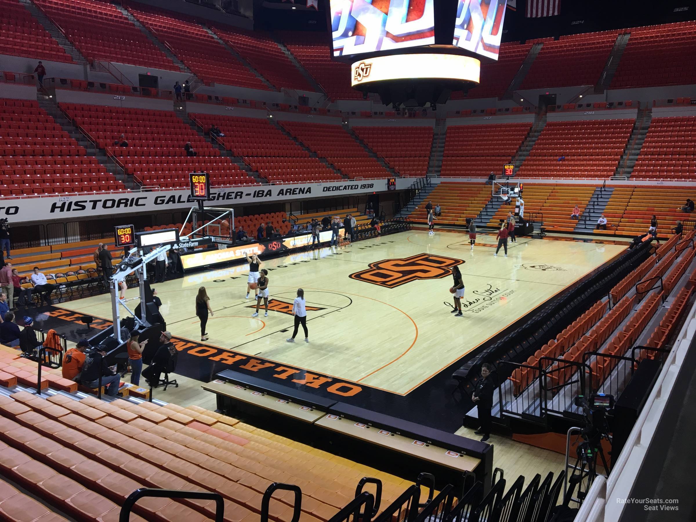
M61 104L61 108L74 125L116 157L125 173L142 185L187 187L193 171L210 173L216 186L255 183L173 111L68 103ZM121 134L125 134L127 147L113 145ZM189 141L198 156L187 156L184 145Z

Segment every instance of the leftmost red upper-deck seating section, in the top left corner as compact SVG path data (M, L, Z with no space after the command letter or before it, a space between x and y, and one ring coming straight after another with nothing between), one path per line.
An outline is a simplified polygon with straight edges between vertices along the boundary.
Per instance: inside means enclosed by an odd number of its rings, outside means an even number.
M0 0L0 54L72 63L72 56L18 0Z

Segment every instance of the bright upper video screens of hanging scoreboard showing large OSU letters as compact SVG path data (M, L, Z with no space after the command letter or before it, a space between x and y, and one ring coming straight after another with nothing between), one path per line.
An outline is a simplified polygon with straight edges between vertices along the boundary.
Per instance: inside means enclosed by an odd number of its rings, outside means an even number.
M333 56L452 42L497 60L507 0L456 1L455 19L436 29L435 0L330 0Z

